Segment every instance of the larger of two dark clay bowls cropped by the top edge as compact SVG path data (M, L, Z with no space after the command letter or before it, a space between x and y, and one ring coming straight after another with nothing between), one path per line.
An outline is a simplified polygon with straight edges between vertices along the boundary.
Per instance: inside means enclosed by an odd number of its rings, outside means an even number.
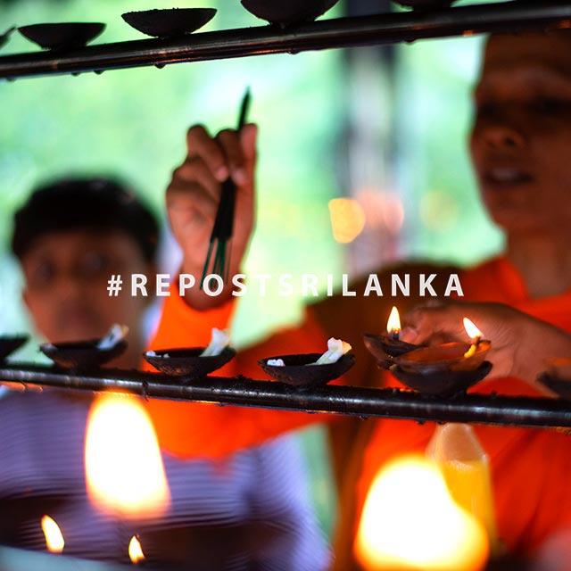
M289 26L302 21L313 21L337 2L338 0L242 0L242 5L261 20Z

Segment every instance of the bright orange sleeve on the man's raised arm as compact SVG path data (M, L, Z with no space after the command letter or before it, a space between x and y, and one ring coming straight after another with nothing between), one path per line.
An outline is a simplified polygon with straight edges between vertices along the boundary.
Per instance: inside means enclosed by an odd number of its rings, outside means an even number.
M165 300L161 323L150 349L204 346L211 328L228 327L234 303L216 310L196 311L171 286ZM267 379L258 360L278 354L322 352L327 338L308 313L301 327L285 329L266 341L238 352L236 358L216 371L220 377ZM150 366L145 366L149 370ZM159 443L164 450L180 457L217 457L252 446L288 430L332 418L305 412L219 406L211 403L147 401Z

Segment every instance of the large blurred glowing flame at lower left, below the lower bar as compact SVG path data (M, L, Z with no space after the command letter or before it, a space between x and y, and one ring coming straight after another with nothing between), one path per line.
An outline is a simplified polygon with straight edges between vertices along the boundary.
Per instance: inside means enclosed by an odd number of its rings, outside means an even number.
M153 424L133 397L99 397L87 420L86 482L91 501L124 517L153 517L170 504Z

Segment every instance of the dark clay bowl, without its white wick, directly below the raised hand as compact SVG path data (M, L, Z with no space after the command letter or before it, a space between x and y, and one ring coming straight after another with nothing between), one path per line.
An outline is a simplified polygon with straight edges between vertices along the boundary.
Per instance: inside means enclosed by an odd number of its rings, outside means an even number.
M161 349L156 356L143 353L145 360L164 373L177 377L206 377L217 368L226 365L236 355L236 350L225 347L219 355L201 357L204 347L186 349ZM165 356L165 355L168 355Z

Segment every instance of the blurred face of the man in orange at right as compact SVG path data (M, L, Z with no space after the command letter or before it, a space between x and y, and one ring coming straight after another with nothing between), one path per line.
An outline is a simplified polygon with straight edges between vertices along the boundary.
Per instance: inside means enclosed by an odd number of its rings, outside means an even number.
M470 150L484 204L508 233L571 228L571 34L490 39Z

